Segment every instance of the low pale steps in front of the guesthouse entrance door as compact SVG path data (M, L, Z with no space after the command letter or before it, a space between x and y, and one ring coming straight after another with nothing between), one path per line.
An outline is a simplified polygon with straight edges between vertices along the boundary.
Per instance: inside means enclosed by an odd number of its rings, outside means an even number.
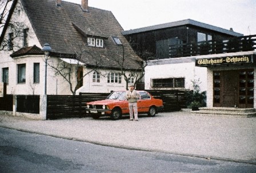
M199 107L199 111L191 111L193 114L203 115L229 115L249 118L256 116L255 108L235 108L235 107Z

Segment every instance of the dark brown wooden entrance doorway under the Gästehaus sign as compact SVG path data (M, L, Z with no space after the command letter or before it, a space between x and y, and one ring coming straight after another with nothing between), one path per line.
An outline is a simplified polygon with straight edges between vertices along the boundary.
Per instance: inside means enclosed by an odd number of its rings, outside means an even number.
M253 69L214 71L213 75L214 107L253 107Z

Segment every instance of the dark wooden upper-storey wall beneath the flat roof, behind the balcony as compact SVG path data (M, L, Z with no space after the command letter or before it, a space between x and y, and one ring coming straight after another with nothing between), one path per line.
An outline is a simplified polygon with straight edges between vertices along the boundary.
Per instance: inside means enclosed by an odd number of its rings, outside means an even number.
M219 33L218 31L205 29L203 27L194 25L166 27L158 30L129 34L125 35L125 37L128 41L130 41L131 47L133 47L137 53L149 51L151 54L156 55L158 48L156 45L157 41L163 39L178 38L183 43L197 43L198 32L211 35L214 41L222 41L233 37L232 35Z

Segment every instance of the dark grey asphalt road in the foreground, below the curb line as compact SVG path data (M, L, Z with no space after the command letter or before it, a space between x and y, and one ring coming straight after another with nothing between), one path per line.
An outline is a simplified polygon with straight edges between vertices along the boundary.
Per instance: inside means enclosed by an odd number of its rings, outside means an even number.
M0 128L0 172L248 172L256 165L126 150Z

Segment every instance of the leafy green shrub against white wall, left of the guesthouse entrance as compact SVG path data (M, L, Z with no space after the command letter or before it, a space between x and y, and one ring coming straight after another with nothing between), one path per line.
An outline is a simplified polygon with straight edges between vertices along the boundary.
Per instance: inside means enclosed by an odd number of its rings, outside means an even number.
M187 107L195 111L199 110L199 107L206 106L206 91L200 90L199 79L191 82L193 83L193 91L187 97Z

